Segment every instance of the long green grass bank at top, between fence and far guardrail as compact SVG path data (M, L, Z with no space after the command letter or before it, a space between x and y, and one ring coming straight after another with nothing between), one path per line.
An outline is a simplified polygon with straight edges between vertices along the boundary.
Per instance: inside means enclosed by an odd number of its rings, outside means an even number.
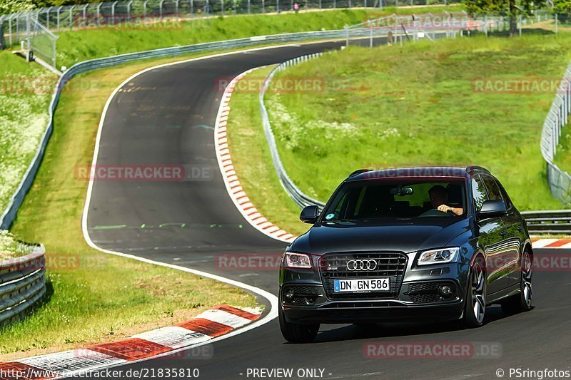
M343 29L344 25L365 21L367 15L383 16L426 11L456 11L459 6L385 9L383 12L364 9L311 11L292 14L244 15L209 17L193 21L164 21L139 26L108 26L62 31L59 33L58 64L71 66L90 58L112 56L153 48L183 46L192 43L222 41L233 38L261 36L320 29Z

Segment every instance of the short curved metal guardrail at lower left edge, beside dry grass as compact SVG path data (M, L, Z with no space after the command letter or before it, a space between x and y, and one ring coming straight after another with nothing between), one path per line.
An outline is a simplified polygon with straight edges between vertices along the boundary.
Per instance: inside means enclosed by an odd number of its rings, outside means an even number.
M46 294L43 245L24 257L0 262L0 325L19 319Z

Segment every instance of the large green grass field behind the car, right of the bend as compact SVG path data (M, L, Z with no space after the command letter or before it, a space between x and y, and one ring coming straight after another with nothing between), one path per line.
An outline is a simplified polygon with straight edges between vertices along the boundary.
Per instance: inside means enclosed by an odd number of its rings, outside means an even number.
M273 91L266 105L285 168L326 200L357 168L482 165L521 210L555 209L540 134L552 93L474 91L477 78L561 78L570 34L350 47L284 76L324 91ZM251 196L251 195L248 195ZM266 212L266 210L262 210Z

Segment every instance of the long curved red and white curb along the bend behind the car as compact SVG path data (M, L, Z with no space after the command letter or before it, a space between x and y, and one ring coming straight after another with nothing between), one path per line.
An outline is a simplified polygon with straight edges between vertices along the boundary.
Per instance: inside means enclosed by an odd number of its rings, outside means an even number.
M273 237L273 239L281 240L282 242L291 242L295 239L295 235L281 230L280 227L268 221L258 210L256 210L256 207L254 207L252 202L248 199L246 192L244 192L240 185L240 180L238 180L236 170L234 170L230 147L228 146L228 131L226 130L228 115L230 114L230 106L228 103L230 102L236 83L246 76L246 74L251 73L254 70L256 70L256 68L245 71L239 76L236 76L236 78L233 78L232 81L228 83L228 86L226 86L226 89L224 90L220 108L218 109L218 115L216 116L216 122L214 123L214 145L216 147L216 158L218 158L218 165L220 166L220 172L222 173L226 190L228 190L228 195L230 195L234 205L236 205L248 223L264 235Z

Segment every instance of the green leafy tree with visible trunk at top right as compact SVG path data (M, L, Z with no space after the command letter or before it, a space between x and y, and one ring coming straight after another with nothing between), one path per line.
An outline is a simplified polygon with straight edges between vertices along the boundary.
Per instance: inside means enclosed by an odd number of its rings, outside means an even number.
M517 33L517 16L531 15L545 4L545 0L466 0L465 4L466 11L472 16L494 14L509 17L510 36L514 36Z

